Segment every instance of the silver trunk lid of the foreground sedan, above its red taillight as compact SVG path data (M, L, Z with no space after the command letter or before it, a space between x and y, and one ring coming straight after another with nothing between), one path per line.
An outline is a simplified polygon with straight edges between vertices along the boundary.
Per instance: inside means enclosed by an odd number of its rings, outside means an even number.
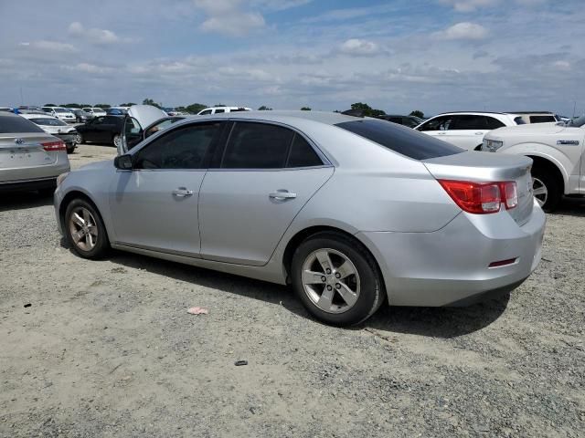
M507 210L516 224L526 224L534 199L530 168L532 160L520 155L466 151L454 155L423 160L431 175L438 180L469 181L473 183L516 183L518 203ZM502 208L505 208L502 206Z

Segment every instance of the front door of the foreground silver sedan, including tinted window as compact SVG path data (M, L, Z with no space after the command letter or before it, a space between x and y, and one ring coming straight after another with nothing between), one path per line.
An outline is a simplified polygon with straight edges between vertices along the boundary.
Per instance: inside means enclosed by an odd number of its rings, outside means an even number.
M199 187L222 126L177 127L133 152L132 171L117 171L110 189L117 243L199 256Z

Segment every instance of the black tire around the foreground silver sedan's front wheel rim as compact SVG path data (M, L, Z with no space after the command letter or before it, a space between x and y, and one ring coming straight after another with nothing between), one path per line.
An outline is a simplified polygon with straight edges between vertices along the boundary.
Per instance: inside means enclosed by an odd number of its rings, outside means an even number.
M78 243L73 238L73 229L71 228L70 224L72 214L79 212L80 209L86 209L90 212L89 224L91 225L92 223L95 223L94 226L97 232L96 235L91 234L92 238L95 239L95 244L92 247L87 245L85 249L78 245ZM63 232L73 252L75 252L75 254L79 255L80 257L100 259L107 255L108 251L110 250L110 241L108 240L106 228L103 225L103 221L101 220L101 215L97 209L85 199L76 198L67 205L67 209L65 210L65 217L63 218ZM86 242L88 241L87 238L83 239Z

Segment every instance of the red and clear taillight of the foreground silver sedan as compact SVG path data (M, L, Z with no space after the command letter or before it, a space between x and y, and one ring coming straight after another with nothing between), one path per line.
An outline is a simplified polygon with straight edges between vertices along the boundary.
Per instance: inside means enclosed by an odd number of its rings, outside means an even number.
M467 213L490 214L516 207L518 193L514 181L503 183L473 183L471 181L439 180L452 200Z

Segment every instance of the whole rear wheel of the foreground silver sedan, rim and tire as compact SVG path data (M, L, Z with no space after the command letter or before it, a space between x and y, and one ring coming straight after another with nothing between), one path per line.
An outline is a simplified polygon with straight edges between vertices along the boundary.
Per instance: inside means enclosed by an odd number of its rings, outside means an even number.
M294 252L291 275L303 306L328 324L358 324L383 301L382 280L372 255L341 234L319 233L303 241Z

